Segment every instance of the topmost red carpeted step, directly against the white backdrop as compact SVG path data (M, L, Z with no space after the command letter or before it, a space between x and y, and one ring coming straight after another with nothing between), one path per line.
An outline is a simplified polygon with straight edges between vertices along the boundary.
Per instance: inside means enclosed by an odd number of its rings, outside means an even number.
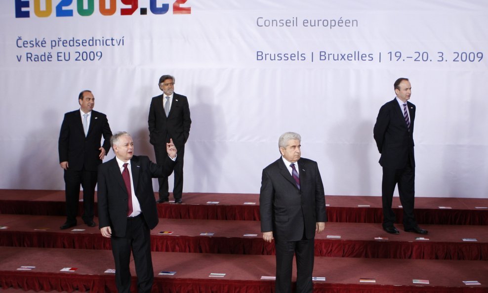
M381 197L326 196L325 199L330 222L382 221ZM62 190L3 189L0 190L0 213L64 215L64 201ZM397 222L401 223L403 213L399 205L400 201L395 197L393 207L397 213ZM417 197L415 207L419 224L488 225L488 199ZM185 193L182 205L159 204L158 212L162 218L259 220L259 195Z

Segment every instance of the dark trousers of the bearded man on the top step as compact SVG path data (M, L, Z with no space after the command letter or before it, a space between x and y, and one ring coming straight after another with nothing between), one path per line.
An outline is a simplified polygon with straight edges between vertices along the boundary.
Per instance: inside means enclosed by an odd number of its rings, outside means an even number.
M168 139L169 140L169 139ZM174 173L174 186L173 186L173 197L175 200L181 199L183 193L183 158L185 156L185 145L177 146L176 150L177 159L176 165L174 166L173 173ZM158 165L164 164L168 153L166 151L166 145L155 145L154 146L154 154L156 156L156 163ZM169 197L169 185L168 185L168 177L158 178L159 182L159 198L160 199L167 199Z

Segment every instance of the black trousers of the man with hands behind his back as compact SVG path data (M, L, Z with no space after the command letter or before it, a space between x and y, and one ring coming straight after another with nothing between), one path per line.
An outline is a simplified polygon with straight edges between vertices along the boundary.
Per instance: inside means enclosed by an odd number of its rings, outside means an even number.
M392 209L393 193L398 184L398 193L403 207L404 229L417 226L413 213L415 205L415 167L410 160L407 166L401 169L383 167L383 182L381 184L381 198L383 204L383 227L391 227L396 221L395 212Z

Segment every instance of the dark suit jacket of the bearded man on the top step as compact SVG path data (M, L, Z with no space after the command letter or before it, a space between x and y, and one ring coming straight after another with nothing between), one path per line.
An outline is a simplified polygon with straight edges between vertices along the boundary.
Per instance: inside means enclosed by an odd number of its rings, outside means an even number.
M161 145L173 139L176 149L188 140L190 135L190 107L186 96L174 93L169 116L164 113L164 94L154 97L149 107L149 142L152 145ZM169 137L166 141L166 137Z

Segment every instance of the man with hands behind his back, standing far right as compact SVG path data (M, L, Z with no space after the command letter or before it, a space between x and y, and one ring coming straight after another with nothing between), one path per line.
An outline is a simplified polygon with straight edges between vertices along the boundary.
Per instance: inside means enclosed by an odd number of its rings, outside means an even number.
M383 230L399 234L393 223L396 220L391 208L393 192L398 183L398 193L403 207L403 224L407 232L427 234L418 227L413 214L415 196L415 157L413 154L413 126L415 105L408 102L412 86L406 78L394 84L396 97L384 104L376 118L374 140L381 154L379 164L383 167L381 197L383 203Z

